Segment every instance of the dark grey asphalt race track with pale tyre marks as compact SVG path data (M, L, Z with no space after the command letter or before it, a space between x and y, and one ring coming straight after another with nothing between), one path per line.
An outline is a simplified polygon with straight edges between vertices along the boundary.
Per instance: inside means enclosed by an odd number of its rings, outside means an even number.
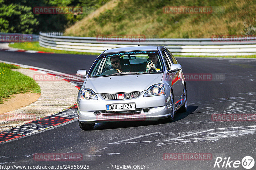
M67 74L75 74L78 69L88 70L96 57L0 51L0 60ZM82 131L75 121L0 144L0 165L89 165L89 169L113 169L111 165L145 165L144 169L244 169L242 165L238 168L225 168L226 164L224 168L213 166L217 157L230 157L234 162L251 156L256 161L255 121L216 122L211 119L212 114L255 114L256 59L177 60L185 74L224 74L225 80L187 81L188 111L176 114L172 123L98 123L92 131ZM81 153L83 160L35 161L35 153ZM164 153L210 153L212 159L164 160ZM256 169L256 165L252 169Z

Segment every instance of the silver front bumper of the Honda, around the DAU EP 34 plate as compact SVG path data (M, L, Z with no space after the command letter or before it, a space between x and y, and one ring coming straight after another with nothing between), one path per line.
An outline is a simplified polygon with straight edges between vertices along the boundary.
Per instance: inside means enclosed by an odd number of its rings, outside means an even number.
M83 123L98 123L98 122L114 122L114 121L155 121L161 118L170 116L171 104L170 96L149 96L144 97L143 91L139 97L125 100L105 100L101 95L97 94L98 100L80 100L78 106L78 121ZM136 109L141 111L136 114L122 111L122 113L112 113L108 116L106 112L106 104L117 103L135 103ZM148 108L149 111L144 112L143 109ZM94 112L98 111L99 115Z

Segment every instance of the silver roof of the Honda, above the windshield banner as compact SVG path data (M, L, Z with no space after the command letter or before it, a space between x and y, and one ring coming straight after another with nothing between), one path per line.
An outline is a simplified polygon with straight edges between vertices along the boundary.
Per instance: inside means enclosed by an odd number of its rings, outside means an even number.
M119 47L119 48L111 48L104 53L116 53L121 51L138 51L138 50L157 50L158 46L127 46L127 47Z

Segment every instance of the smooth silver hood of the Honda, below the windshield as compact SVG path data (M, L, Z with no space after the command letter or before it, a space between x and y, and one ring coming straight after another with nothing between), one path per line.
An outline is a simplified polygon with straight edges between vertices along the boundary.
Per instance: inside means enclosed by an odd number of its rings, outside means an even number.
M154 84L161 83L162 76L163 73L87 78L85 88L100 94L144 91Z

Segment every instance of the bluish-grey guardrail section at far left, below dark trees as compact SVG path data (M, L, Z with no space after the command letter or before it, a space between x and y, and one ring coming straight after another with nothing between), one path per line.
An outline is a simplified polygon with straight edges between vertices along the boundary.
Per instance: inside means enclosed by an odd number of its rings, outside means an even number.
M39 35L0 32L0 42L39 41Z

